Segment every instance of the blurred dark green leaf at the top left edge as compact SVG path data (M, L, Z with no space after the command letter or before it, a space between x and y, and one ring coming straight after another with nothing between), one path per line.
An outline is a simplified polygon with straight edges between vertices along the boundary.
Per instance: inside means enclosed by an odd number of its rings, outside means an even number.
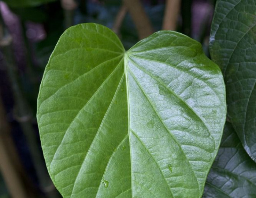
M32 7L39 6L43 3L48 3L56 0L3 0L10 7Z

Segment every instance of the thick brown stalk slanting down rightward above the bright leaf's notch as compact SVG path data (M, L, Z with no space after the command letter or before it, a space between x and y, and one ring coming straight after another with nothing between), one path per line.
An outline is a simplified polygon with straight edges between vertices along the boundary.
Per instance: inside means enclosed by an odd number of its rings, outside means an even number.
M142 3L139 0L123 0L123 2L128 8L131 18L134 21L139 38L143 39L153 34L153 27L149 18L146 15Z

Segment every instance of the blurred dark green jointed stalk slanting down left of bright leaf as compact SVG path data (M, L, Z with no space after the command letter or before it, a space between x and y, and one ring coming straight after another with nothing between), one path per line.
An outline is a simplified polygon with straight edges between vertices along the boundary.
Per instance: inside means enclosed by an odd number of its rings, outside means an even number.
M0 19L2 18L0 17ZM0 20L0 24L1 24L0 27L3 28L2 20ZM4 31L0 31L0 32L7 32L7 30L5 29ZM32 162L37 172L37 176L40 182L40 186L42 187L42 190L45 191L45 193L47 194L47 197L56 197L56 196L58 197L59 193L55 188L52 188L53 183L51 182L51 179L49 177L48 171L45 166L45 161L43 160L43 157L42 157L42 152L37 143L37 137L31 122L32 113L31 113L30 107L27 104L22 94L21 88L19 87L17 67L14 61L15 59L13 55L13 50L11 48L11 44L12 44L11 36L8 33L6 33L5 36L3 37L5 37L5 39L0 40L0 47L4 54L7 73L9 76L10 85L11 85L11 89L14 96L14 101L15 101L14 114L15 114L16 120L19 122L22 128L22 131L26 137L26 141L29 146L29 150L32 157Z

